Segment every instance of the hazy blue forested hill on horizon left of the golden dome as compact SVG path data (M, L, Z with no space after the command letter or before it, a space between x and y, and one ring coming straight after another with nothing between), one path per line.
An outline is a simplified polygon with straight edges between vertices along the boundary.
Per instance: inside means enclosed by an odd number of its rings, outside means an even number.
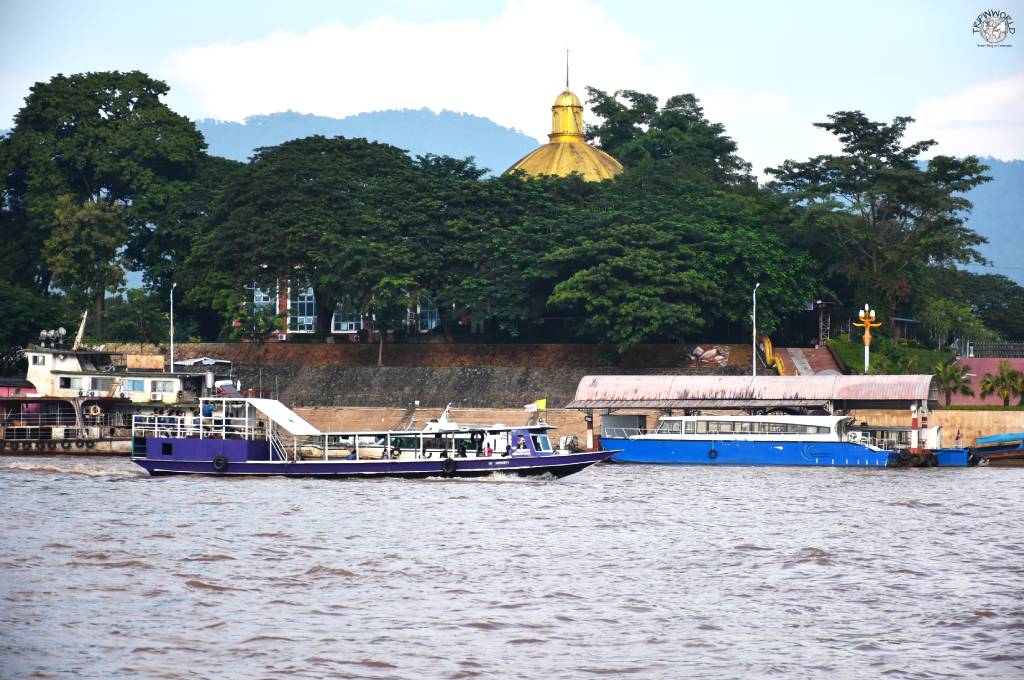
M204 119L196 123L215 156L247 160L254 148L289 139L322 134L327 137L366 137L404 148L413 156L437 154L476 158L476 165L501 174L538 146L538 140L493 121L429 109L377 111L348 118L327 118L286 112L252 116L242 123Z

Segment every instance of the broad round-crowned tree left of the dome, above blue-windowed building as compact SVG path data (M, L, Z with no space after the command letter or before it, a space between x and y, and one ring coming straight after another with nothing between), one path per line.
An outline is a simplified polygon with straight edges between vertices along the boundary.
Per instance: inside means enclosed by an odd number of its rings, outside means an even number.
M399 148L306 137L260 148L227 183L188 259L189 300L240 299L255 283L312 288L316 337L339 302L365 308L388 272L416 261L423 176ZM429 253L425 253L429 256Z

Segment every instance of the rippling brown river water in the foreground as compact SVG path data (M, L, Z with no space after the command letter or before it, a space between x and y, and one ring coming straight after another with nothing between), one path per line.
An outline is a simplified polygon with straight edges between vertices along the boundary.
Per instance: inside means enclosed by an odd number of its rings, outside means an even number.
M3 678L1024 678L1024 469L0 458Z

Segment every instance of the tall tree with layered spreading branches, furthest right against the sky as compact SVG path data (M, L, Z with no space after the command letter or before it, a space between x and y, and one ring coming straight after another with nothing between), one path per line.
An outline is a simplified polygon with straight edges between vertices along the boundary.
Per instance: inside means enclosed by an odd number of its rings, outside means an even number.
M919 157L936 142L903 145L913 119L887 125L856 111L828 119L815 126L839 137L841 155L767 172L774 190L807 208L807 230L826 230L830 248L819 257L854 284L858 299L881 296L878 306L891 318L921 263L983 261L976 246L984 239L964 224L971 208L964 193L989 179L976 157L936 156L922 167Z

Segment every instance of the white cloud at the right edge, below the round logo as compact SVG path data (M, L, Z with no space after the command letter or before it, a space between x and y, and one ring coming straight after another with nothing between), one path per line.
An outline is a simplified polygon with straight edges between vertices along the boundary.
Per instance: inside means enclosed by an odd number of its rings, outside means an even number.
M907 139L935 139L932 154L1024 158L1024 76L926 99L913 117Z

